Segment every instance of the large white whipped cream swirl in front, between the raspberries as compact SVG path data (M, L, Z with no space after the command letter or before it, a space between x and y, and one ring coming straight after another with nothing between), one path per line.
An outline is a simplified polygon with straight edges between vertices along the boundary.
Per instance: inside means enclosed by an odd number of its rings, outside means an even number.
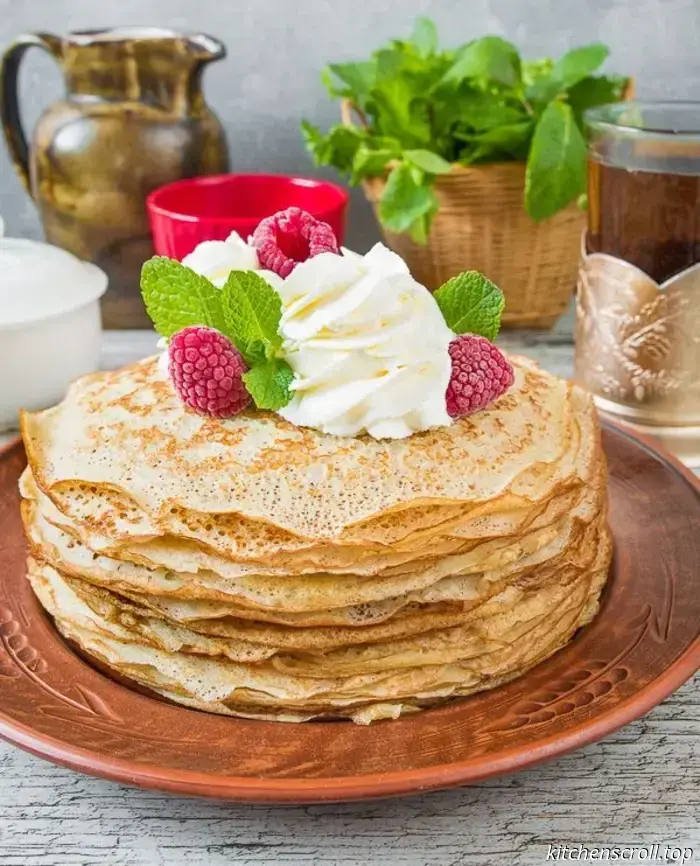
M377 439L452 423L445 391L454 334L400 256L383 244L365 256L322 253L276 289L285 359L296 374L280 415Z

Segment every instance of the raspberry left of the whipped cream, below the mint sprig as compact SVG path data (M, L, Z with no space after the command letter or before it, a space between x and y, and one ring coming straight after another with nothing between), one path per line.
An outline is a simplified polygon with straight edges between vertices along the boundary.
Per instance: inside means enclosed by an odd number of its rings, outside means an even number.
M168 370L182 402L200 415L230 418L250 403L241 353L214 328L178 331L168 346Z

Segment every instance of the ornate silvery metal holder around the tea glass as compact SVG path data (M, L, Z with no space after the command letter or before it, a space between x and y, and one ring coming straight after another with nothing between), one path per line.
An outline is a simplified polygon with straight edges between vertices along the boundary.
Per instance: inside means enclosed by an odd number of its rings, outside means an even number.
M700 264L659 285L604 253L581 258L576 378L598 408L700 465Z

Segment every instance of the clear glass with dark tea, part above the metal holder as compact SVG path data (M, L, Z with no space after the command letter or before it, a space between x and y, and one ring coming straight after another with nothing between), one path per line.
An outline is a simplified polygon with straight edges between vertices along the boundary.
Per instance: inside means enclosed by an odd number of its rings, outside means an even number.
M587 115L588 252L663 282L700 261L700 109L624 103Z

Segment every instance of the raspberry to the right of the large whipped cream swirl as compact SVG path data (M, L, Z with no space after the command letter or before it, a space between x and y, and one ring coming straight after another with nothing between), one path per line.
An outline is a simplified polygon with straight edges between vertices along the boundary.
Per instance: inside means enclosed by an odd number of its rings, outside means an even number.
M450 343L447 413L461 418L485 409L513 384L513 368L486 337L463 334Z

